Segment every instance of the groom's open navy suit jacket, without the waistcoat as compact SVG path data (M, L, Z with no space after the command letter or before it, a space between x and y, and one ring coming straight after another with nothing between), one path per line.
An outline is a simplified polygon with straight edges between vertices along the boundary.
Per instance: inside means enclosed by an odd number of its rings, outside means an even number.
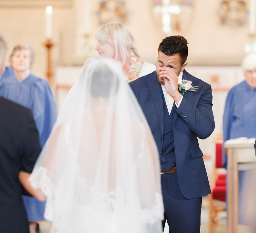
M179 108L175 106L173 120L178 183L182 195L192 199L211 192L197 137L205 139L214 130L212 90L209 84L185 70L182 79L190 80L193 86L198 86L197 92L187 91L184 94ZM129 85L146 116L161 156L164 110L162 88L156 72L130 82Z

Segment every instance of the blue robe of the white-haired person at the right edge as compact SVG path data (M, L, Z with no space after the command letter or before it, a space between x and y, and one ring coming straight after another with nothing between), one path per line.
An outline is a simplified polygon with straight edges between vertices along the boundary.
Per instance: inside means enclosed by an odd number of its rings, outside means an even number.
M239 137L255 137L256 132L256 88L252 89L246 81L230 89L223 114L223 142ZM227 154L223 143L223 166L227 168ZM239 172L239 186L243 183L245 171ZM241 189L239 190L241 197ZM239 209L242 201L239 198ZM239 212L239 223L244 223Z

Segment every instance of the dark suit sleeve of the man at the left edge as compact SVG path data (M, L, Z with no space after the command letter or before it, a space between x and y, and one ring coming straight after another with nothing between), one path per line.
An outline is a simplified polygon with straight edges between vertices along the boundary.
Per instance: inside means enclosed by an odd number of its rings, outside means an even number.
M21 170L31 173L41 152L41 146L32 112L29 111L28 113L21 145Z

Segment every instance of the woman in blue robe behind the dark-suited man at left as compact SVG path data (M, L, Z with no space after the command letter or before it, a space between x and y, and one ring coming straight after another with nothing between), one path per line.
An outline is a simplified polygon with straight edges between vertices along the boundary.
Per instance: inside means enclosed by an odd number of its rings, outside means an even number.
M34 52L31 47L14 47L10 55L14 75L1 80L0 96L32 111L43 147L56 121L56 104L47 81L30 73L33 62ZM30 196L24 196L23 200L32 233L36 231L36 222L44 220L45 202Z

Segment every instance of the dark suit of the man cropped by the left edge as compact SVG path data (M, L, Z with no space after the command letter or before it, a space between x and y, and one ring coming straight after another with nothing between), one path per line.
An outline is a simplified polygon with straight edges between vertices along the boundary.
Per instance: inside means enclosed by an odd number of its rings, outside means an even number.
M31 173L41 151L32 112L0 97L0 232L29 233L20 171Z

